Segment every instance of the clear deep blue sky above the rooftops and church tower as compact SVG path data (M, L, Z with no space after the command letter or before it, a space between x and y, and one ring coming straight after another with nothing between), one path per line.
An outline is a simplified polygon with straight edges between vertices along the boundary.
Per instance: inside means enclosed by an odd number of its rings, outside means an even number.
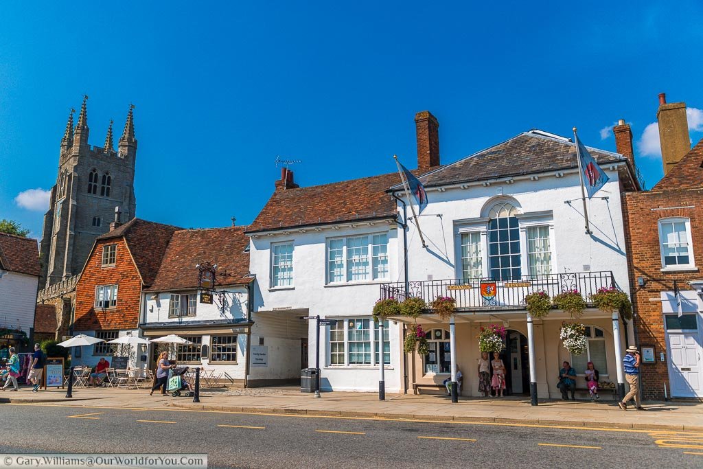
M252 221L277 155L305 186L414 167L425 109L442 162L533 127L614 150L619 118L639 143L662 91L703 137L700 2L469 3L4 2L0 218L41 236L41 192L17 197L54 184L83 94L93 145L136 105L137 216L186 228Z

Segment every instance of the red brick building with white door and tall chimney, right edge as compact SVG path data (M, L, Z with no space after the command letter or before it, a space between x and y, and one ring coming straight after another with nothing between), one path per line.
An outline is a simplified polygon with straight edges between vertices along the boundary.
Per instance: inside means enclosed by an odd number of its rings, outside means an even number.
M659 98L664 178L624 196L643 397L703 397L703 141L690 148L685 104Z

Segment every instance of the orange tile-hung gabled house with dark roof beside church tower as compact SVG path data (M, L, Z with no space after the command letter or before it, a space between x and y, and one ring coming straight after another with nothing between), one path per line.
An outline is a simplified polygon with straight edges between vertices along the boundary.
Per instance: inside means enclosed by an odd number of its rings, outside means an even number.
M98 236L76 285L74 333L104 340L138 335L142 290L152 285L178 229L135 218L121 226L112 224L108 233ZM115 348L101 342L82 352L84 363L92 364L114 354Z

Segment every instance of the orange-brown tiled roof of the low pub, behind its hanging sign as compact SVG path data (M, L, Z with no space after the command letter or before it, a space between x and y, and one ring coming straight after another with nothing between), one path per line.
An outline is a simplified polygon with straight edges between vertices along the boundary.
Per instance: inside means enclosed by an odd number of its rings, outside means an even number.
M249 283L249 252L245 252L248 226L176 231L171 238L156 279L146 290L164 291L198 286L196 264L217 262L217 285Z

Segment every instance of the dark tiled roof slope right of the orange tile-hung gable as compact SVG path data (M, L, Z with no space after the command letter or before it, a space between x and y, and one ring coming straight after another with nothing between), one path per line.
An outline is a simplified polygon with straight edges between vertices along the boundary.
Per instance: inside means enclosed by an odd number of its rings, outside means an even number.
M144 285L152 285L171 236L178 230L178 226L133 218L97 240L124 238Z

